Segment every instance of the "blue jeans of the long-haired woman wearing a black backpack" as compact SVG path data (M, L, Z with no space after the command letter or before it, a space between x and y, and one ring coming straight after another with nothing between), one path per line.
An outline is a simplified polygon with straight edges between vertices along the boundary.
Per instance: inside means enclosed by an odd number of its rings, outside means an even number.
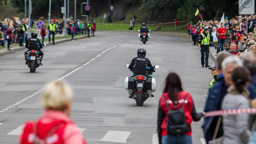
M192 137L186 134L183 135L168 135L162 137L162 144L192 144Z

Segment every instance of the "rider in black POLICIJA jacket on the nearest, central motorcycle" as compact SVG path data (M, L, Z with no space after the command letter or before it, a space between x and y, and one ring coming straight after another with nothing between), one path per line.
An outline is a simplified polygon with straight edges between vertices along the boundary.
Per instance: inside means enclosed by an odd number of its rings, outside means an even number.
M136 75L143 75L147 77L148 73L146 67L150 67L152 71L154 70L154 67L151 65L150 60L145 58L146 50L144 48L139 48L137 55L138 57L133 58L128 67L130 70L134 70L134 75L131 77Z

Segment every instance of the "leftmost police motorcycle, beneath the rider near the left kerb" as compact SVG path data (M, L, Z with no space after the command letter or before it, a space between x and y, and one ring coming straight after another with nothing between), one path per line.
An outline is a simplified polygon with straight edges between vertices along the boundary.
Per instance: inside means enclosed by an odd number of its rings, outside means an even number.
M24 46L26 43L24 43ZM43 46L46 46L46 44L43 44ZM41 48L43 49L43 47ZM28 57L28 67L30 68L30 73L34 73L36 71L36 68L40 66L40 60L39 60L39 51L30 50L27 52Z

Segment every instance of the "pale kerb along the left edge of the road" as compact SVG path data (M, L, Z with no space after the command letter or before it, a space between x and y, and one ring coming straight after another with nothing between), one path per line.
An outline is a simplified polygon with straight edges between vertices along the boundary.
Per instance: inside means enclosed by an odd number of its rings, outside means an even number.
M81 38L87 38L87 35L83 35L83 36L78 36L78 37L74 37L73 39L76 40L76 39L81 39ZM63 39L59 39L59 40L56 40L55 41L55 44L58 44L58 43L62 43L62 42L67 42L67 41L71 41L71 38L63 38ZM45 43L47 46L48 45L52 45L50 44L49 42ZM0 56L2 55L6 55L6 54L11 54L11 53L14 53L15 51L18 51L18 50L25 50L25 46L15 46L14 48L12 48L11 50L6 50L7 48L3 49L3 50L0 50Z

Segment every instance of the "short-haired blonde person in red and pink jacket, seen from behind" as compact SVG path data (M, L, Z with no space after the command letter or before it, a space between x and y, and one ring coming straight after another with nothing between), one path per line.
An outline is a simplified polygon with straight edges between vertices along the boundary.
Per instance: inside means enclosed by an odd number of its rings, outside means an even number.
M71 100L70 86L58 81L48 83L40 98L45 112L37 121L26 122L19 143L38 143L51 139L47 143L86 144L80 130L69 118Z

